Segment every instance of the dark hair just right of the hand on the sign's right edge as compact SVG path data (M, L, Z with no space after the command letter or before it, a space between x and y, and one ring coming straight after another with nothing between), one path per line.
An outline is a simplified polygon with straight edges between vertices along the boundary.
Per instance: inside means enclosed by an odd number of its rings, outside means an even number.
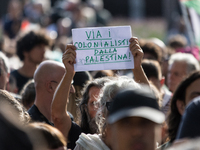
M155 60L157 60L159 63L161 62L162 49L157 44L143 39L139 40L139 43L144 53L153 55Z

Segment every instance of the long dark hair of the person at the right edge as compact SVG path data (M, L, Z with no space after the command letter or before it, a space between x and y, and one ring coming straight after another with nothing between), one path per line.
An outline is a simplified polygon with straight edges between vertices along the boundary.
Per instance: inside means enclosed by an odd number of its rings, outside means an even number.
M168 116L168 132L169 132L169 138L171 139L171 142L173 142L176 138L176 134L178 131L178 127L181 121L181 114L178 111L178 108L176 106L177 100L183 101L185 103L185 96L186 96L186 90L188 86L190 86L194 81L197 79L200 79L200 71L195 71L192 74L190 74L186 79L184 79L178 88L176 89L172 100L171 100L171 111Z

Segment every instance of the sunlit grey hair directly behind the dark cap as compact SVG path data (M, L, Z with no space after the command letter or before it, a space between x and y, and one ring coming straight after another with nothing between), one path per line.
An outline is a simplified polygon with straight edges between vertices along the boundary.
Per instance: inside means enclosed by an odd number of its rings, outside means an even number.
M116 77L113 81L108 82L101 89L97 104L99 109L96 113L96 124L98 126L98 132L103 134L105 126L105 118L108 111L106 108L106 102L112 101L112 98L123 89L139 89L140 84L136 83L133 79L121 76Z

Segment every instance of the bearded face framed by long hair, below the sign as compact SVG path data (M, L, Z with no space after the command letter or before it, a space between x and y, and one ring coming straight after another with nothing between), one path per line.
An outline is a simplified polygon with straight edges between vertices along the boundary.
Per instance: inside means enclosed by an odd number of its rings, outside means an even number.
M91 87L89 90L89 100L88 100L88 113L93 119L96 115L97 108L95 107L95 102L97 101L97 98L99 96L100 89L97 87Z

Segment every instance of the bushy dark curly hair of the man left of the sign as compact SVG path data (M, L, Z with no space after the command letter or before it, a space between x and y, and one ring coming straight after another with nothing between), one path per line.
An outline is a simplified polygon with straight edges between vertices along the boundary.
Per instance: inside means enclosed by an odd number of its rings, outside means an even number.
M48 38L41 33L29 32L17 41L17 55L20 60L24 60L23 52L30 52L35 46L44 44L49 45Z

